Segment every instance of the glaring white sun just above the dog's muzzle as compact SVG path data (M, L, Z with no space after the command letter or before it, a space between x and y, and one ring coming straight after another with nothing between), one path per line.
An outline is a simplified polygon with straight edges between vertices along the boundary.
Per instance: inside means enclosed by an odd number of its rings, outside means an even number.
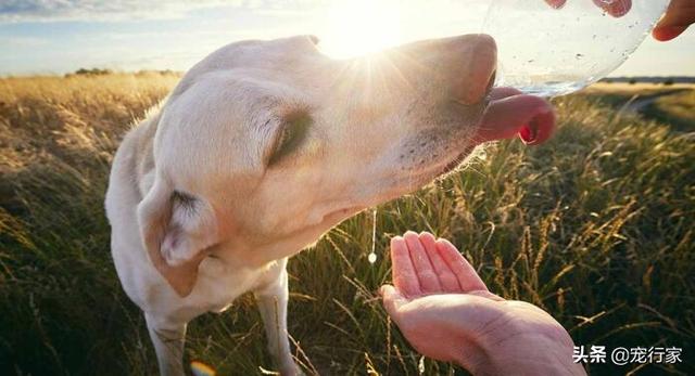
M338 59L364 55L402 42L397 1L340 0L328 10L323 50Z

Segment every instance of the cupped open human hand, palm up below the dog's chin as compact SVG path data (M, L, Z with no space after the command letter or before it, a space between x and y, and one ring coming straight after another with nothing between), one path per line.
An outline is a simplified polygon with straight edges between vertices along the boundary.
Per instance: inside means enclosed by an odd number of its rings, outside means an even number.
M448 241L407 232L391 239L391 261L393 285L381 287L384 308L424 355L473 374L584 375L557 321L492 294Z

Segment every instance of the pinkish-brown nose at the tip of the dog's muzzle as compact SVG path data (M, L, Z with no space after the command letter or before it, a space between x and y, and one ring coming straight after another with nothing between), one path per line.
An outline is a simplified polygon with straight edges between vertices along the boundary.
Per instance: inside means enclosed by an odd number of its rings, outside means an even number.
M455 68L454 98L463 104L476 104L484 100L494 85L497 66L497 47L494 39L484 34L468 35L451 41L455 51L462 51L463 61ZM454 52L456 53L456 52Z

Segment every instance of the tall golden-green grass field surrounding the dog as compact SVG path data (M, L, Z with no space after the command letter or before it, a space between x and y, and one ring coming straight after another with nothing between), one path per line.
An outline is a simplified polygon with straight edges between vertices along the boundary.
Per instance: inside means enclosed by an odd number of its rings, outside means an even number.
M0 79L0 375L156 372L111 262L102 200L118 140L177 80ZM492 145L380 207L374 265L369 213L332 230L289 264L298 361L323 375L462 372L421 359L375 295L390 280L389 237L412 229L452 239L494 293L546 309L578 345L683 348L681 364L591 374L695 374L693 93L659 99L647 117L603 94L556 101L548 144ZM224 375L269 367L253 299L192 322L186 353Z

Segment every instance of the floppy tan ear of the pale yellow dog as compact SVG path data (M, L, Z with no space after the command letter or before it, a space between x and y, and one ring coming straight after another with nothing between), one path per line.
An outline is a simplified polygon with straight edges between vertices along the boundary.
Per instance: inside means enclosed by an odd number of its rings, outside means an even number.
M138 222L150 260L180 297L188 296L198 267L217 242L217 219L207 200L174 191L163 178L138 205Z

